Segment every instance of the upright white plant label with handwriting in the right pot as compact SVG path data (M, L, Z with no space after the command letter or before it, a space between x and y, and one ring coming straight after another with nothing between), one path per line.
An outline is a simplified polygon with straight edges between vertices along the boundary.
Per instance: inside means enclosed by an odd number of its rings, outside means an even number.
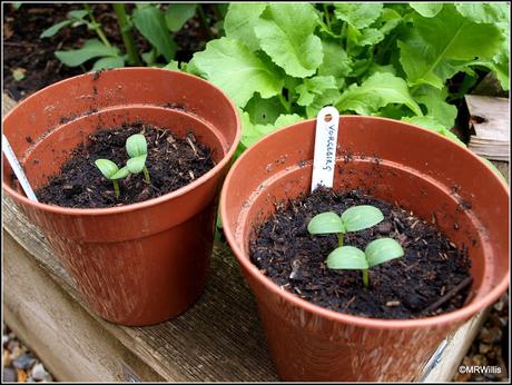
M338 124L339 112L332 106L321 109L316 117L312 192L318 186L333 187Z

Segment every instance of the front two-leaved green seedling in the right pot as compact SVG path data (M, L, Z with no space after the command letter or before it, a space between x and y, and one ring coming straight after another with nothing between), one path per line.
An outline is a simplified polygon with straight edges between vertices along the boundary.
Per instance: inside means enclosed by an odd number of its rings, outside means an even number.
M327 267L335 270L356 269L363 273L364 287L370 286L368 269L400 258L404 250L400 244L392 238L380 238L372 240L363 250L354 246L342 246L333 250L327 257Z

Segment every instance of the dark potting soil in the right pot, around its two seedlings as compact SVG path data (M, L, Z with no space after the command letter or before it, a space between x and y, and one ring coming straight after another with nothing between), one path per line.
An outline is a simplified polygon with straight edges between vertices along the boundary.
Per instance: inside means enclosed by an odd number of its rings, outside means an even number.
M404 256L370 269L365 288L361 270L332 270L325 259L337 247L336 235L314 236L308 221L324 211L343 213L357 205L380 208L378 225L344 235L358 247L374 239L397 240ZM318 188L309 196L279 205L255 229L252 261L283 289L337 312L374 318L417 318L460 308L471 287L465 248L459 250L432 224L410 211L357 190Z

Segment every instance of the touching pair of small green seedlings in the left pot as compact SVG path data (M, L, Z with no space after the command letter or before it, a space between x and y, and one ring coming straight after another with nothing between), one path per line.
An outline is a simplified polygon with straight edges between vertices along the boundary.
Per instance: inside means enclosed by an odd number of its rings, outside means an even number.
M112 181L116 197L120 195L118 179L126 178L130 174L139 174L142 171L145 181L148 184L151 181L149 171L146 167L148 145L144 135L135 134L128 137L128 139L126 139L126 151L128 152L129 159L122 168L119 168L109 159L97 159L95 161L96 167L99 168L101 174Z

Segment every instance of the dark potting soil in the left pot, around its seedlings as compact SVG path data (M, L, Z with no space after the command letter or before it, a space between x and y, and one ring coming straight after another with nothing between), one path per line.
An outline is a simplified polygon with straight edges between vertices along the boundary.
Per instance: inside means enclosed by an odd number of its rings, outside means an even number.
M126 139L144 134L148 144L146 167L150 184L142 172L119 179L120 196L116 197L112 181L106 179L95 165L104 158L119 167L126 165ZM89 137L77 147L58 176L36 191L40 201L62 207L102 208L135 204L177 190L199 178L215 166L211 151L189 131L185 138L170 130L150 125L135 124L107 130Z

